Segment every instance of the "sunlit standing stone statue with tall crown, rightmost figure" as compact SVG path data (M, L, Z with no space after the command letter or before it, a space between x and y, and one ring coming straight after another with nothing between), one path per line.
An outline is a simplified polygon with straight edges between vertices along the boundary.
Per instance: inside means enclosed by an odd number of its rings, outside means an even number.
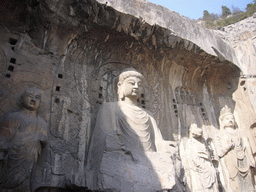
M234 116L227 106L220 111L220 133L216 148L222 164L224 186L228 192L254 191L251 167L255 167L246 134L236 128Z

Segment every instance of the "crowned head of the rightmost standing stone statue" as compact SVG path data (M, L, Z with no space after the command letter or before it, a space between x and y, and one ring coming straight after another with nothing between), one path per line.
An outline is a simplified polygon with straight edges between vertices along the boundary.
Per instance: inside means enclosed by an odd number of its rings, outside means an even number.
M220 111L219 123L221 130L225 128L235 129L235 118L231 113L231 109L228 108L227 105L225 105L225 107L223 107Z

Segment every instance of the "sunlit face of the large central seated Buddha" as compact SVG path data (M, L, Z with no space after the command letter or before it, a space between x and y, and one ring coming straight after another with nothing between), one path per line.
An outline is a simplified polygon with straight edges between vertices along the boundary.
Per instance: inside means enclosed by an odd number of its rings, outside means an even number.
M131 76L126 78L122 84L123 95L130 99L138 99L142 90L142 81L140 78Z

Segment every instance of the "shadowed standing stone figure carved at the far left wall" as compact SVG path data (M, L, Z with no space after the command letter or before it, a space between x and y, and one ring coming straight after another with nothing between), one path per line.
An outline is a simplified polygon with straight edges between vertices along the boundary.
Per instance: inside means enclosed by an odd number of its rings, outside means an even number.
M0 129L2 191L31 191L32 172L47 143L46 122L37 114L41 92L28 88L21 100L21 111L10 113Z

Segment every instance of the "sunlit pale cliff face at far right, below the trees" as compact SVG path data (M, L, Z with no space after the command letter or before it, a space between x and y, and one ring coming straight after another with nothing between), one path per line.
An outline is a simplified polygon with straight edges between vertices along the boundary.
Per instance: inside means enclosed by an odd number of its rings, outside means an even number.
M242 71L244 91L248 91L249 100L256 111L256 17L246 18L213 32L235 50Z

